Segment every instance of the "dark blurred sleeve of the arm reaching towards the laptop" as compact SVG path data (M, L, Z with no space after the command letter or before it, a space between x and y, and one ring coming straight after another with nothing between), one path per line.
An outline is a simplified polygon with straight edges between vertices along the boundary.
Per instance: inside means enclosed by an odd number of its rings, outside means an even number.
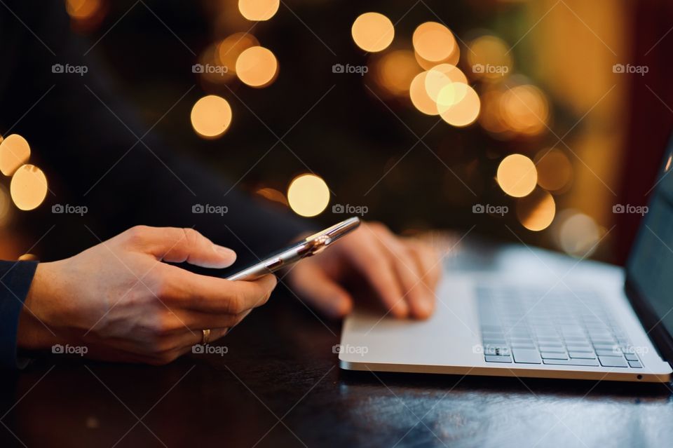
M16 68L0 74L4 104L11 104L0 108L0 124L6 129L17 123L11 132L30 142L31 161L45 170L53 191L36 212L45 213L45 220L54 224L66 224L64 220L71 217L50 214L53 205L88 208L86 221L55 227L41 259L83 250L91 243L90 232L104 240L145 224L192 227L236 250L240 262L248 262L312 228L287 210L270 208L237 191L233 187L238 182L196 161L193 150L179 147L170 135L158 135L156 118L141 119L117 88L118 67L104 64L102 47L70 31L62 2L49 3L55 9L45 13L41 0L11 1L23 24L0 8L0 33L5 34L0 49ZM86 66L87 72L54 73L55 64ZM177 103L164 119L182 114L173 119L189 128L189 109L184 109L204 93L189 83L182 87L162 90L169 99L167 110ZM245 148L228 147L226 135L212 144L225 158L246 154ZM199 205L227 212L198 213ZM82 222L91 230L83 229Z

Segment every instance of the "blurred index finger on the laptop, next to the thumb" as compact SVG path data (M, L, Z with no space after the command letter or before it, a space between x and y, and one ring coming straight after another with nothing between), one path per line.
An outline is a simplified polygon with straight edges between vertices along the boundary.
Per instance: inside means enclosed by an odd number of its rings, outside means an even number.
M372 239L367 238L360 250L351 252L351 260L367 283L379 294L390 313L398 318L406 317L409 314L409 306L405 299L402 299L404 294L392 266L392 260Z

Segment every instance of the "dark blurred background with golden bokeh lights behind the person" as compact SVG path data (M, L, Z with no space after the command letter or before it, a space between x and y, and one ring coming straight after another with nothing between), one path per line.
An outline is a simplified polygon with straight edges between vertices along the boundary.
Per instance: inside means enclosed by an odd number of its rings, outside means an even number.
M623 262L641 215L615 207L646 205L673 123L665 1L63 8L153 133L320 224L474 227ZM29 163L27 145L6 138L0 165L8 151ZM50 167L2 171L0 255L15 259L55 203Z

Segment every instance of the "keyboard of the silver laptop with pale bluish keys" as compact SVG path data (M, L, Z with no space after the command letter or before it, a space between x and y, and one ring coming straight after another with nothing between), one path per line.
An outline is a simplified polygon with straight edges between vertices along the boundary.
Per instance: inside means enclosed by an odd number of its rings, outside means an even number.
M619 323L591 290L477 286L486 362L642 368Z

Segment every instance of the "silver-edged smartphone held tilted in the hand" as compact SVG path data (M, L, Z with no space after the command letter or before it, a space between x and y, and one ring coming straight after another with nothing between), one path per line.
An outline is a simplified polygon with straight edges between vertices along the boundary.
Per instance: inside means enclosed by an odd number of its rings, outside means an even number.
M279 252L276 252L276 254L271 255L271 257L268 257L259 263L255 263L226 279L254 280L255 278L264 276L264 274L273 273L278 271L278 269L292 266L292 264L299 262L301 259L322 252L332 245L334 241L357 229L359 225L360 218L358 217L346 219L346 221L339 222L339 224L335 224L334 226L329 227L329 229L315 233L308 238L301 240L299 243L280 250Z

